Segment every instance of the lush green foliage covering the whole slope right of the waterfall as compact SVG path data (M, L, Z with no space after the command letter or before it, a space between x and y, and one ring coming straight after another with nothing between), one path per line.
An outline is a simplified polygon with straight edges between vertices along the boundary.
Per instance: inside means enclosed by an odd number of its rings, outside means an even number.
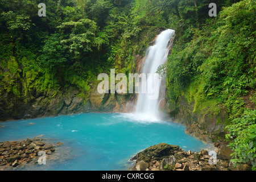
M199 15L206 3L197 4L197 20L187 14L196 10L192 5L177 4L174 47L159 72L166 73L172 106L179 107L185 92L195 113L217 115L224 109L233 162L255 166L255 1L226 2L216 18L203 20Z

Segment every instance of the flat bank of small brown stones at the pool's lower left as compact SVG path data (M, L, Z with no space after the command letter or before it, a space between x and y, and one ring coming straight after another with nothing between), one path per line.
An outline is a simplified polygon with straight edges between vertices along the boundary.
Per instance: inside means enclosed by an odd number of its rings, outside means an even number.
M38 137L21 141L0 142L0 171L14 170L34 164L39 165L40 156L45 156L45 159L48 160L56 151L56 147L62 145L61 142L51 143Z

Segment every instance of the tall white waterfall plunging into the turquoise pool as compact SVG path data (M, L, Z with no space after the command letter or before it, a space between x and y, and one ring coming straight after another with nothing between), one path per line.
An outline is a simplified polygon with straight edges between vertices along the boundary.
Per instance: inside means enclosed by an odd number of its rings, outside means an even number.
M171 29L161 32L161 34L157 36L154 46L147 48L146 60L142 67L141 73L146 75L155 74L154 76L156 76L156 78L147 76L147 92L142 93L140 90L138 95L136 114L138 116L141 115L141 117L144 119L149 119L152 121L159 119L159 103L160 99L162 99L162 97L159 96L159 91L161 89L160 86L161 82L163 81L163 77L160 77L158 74L156 74L156 71L160 65L167 61L167 56L170 49L170 39L172 36L174 36L174 34L175 31ZM143 81L140 85L140 89L142 84L144 84ZM152 99L154 94L158 97Z

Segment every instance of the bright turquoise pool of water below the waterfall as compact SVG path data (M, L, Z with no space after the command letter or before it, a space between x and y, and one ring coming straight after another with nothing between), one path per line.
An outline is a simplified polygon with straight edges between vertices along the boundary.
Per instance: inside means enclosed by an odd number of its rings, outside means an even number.
M134 114L86 113L0 122L0 142L38 136L52 143L63 142L67 154L65 159L33 170L127 170L130 158L154 144L174 144L192 152L209 147L185 134L183 125L137 119Z

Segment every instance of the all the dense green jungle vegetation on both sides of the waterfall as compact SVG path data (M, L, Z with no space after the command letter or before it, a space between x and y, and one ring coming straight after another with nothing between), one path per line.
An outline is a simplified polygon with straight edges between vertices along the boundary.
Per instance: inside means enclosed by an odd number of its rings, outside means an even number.
M233 161L256 166L255 0L44 0L46 16L39 3L0 0L0 98L26 102L31 90L69 86L87 97L99 73L136 72L135 55L172 28L174 47L159 68L168 102L185 95L195 112L225 109Z

